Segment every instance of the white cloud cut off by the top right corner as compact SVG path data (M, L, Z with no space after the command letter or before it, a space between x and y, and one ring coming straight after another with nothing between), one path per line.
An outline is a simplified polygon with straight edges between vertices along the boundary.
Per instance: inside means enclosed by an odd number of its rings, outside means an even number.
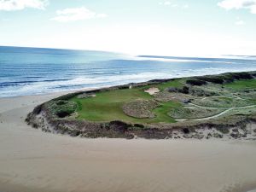
M249 9L252 14L256 14L256 0L224 0L218 6L227 10Z

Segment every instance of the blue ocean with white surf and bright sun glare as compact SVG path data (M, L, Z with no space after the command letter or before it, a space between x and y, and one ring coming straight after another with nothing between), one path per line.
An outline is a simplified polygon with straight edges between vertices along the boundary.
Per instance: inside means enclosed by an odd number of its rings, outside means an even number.
M150 79L255 71L255 56L194 58L0 46L0 97L100 88Z

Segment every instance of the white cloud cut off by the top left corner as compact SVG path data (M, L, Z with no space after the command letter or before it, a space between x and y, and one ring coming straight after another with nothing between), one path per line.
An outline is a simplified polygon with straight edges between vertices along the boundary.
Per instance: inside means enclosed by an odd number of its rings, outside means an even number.
M0 10L45 9L48 0L0 0Z

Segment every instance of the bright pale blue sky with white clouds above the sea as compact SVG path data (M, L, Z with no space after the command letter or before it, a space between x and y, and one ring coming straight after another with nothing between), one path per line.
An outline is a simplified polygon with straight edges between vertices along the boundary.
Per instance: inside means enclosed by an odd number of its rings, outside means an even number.
M256 0L0 0L0 45L256 55Z

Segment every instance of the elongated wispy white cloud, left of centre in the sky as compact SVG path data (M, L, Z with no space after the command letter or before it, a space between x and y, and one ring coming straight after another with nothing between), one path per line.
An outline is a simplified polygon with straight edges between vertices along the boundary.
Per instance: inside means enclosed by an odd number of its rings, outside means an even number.
M91 11L90 9L86 9L84 7L57 10L56 15L57 16L55 16L51 20L67 22L75 20L90 20L93 18L105 18L108 16L106 14L96 14L94 11Z

